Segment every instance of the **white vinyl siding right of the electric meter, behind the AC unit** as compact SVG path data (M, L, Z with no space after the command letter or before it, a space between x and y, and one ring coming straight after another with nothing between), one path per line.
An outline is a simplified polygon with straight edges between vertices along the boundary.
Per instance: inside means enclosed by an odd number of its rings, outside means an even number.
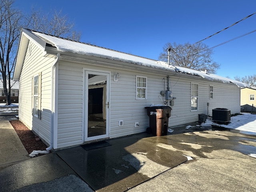
M176 126L198 121L198 114L208 114L212 116L214 108L228 108L231 114L240 112L240 88L234 84L212 83L214 86L214 100L209 99L209 82L194 81L199 84L200 102L198 110L190 113L190 80L171 78L172 93L176 97L172 106L172 115L169 118L169 126ZM207 106L209 103L209 106Z

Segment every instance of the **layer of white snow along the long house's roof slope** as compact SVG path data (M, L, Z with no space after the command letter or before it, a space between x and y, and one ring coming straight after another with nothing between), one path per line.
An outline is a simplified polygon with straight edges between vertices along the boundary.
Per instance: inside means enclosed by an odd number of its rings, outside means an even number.
M206 80L219 81L219 82L223 82L225 84L234 83L238 87L250 87L248 84L245 84L245 83L242 83L242 82L239 82L236 80L232 80L229 78L224 78L224 77L221 77L221 76L218 76L215 74L208 74L206 72L200 72L200 71L189 69L189 68L168 65L168 63L166 63L166 62L143 58L140 56L126 54L123 52L118 52L115 50L102 48L102 47L98 47L98 46L93 46L90 44L76 42L76 41L72 41L72 40L68 40L68 39L64 39L64 38L58 38L55 36L50 36L50 35L39 33L39 32L32 32L32 33L35 34L36 36L39 36L40 38L43 38L48 43L50 42L50 44L55 46L57 48L57 50L60 52L72 52L72 53L77 53L77 54L82 54L82 55L109 58L109 59L113 59L113 60L130 62L130 63L139 64L139 65L143 65L143 66L149 66L149 67L153 67L153 68L160 68L160 69L164 69L164 70L180 72L183 74L200 76Z

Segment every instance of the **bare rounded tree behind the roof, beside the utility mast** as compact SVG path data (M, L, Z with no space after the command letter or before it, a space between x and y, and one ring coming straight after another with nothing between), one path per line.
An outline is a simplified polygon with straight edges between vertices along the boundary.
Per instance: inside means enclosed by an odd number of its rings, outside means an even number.
M160 53L159 60L168 61L168 49L170 50L170 62L176 66L200 71L207 70L209 73L216 73L220 68L220 64L212 60L213 50L202 42L193 46L190 43L167 43L163 47L163 52Z

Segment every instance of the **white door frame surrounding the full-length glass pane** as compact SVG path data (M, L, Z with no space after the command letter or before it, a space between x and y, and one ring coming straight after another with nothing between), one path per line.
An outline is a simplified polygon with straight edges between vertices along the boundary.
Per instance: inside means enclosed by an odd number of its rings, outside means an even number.
M88 74L105 75L107 78L106 84L106 103L109 107L106 107L106 134L88 137ZM83 120L82 120L82 143L92 140L98 140L103 138L109 138L110 136L110 74L109 71L94 70L83 68Z

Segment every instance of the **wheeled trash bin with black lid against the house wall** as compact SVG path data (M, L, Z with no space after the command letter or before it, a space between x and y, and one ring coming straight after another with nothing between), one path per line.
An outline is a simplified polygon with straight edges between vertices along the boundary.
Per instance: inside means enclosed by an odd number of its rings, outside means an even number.
M170 106L145 107L149 116L149 128L153 135L167 135L169 117L172 108ZM147 130L147 132L150 132Z

